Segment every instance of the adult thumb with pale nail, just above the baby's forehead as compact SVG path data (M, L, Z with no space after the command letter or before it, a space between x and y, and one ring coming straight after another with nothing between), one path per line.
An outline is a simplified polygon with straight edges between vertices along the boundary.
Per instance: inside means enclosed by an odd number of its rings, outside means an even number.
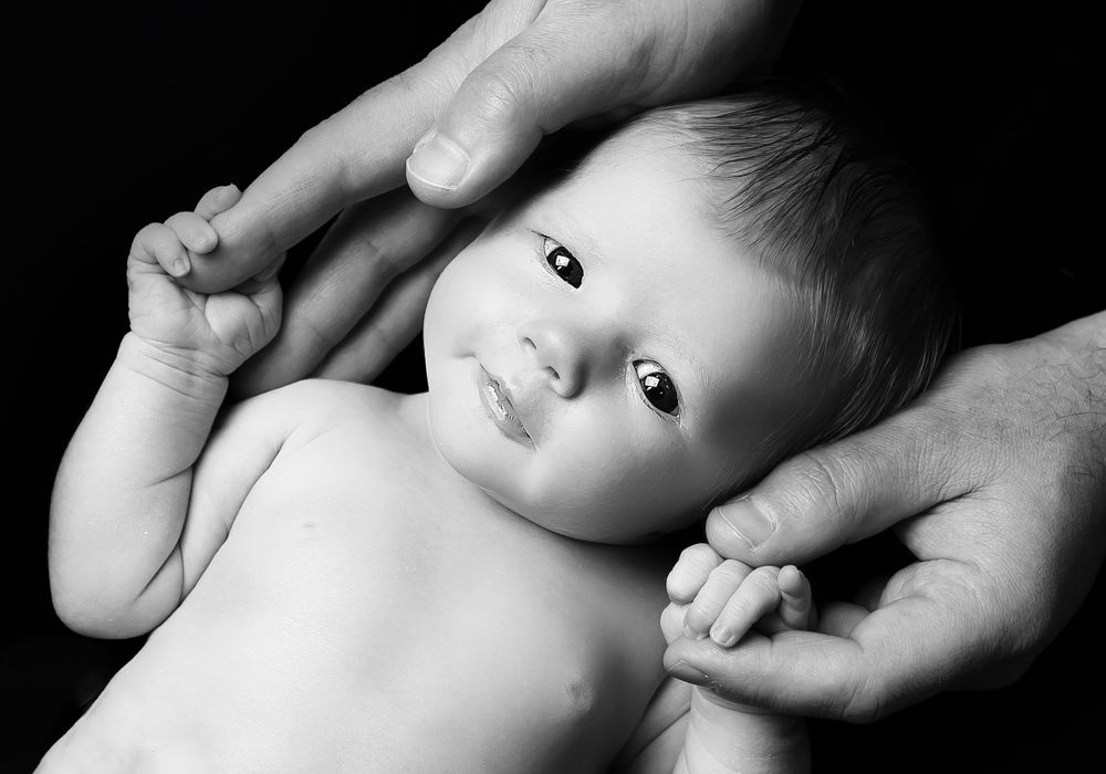
M436 207L480 199L513 175L546 134L625 106L640 76L625 33L604 40L587 13L541 17L465 79L407 160L407 182Z

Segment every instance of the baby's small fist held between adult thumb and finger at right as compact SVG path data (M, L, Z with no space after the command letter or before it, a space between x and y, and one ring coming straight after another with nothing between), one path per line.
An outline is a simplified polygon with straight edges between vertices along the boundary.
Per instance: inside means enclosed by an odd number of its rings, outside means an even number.
M755 625L764 634L814 626L811 585L796 567L723 559L706 543L685 548L668 575L671 604L661 616L668 642L710 637L729 648Z

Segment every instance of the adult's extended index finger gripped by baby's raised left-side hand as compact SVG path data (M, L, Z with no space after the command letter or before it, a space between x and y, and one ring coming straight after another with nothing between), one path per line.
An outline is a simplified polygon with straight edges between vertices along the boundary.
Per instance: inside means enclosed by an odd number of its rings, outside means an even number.
M457 86L540 6L490 3L421 62L305 132L236 206L215 216L219 248L195 262L187 286L206 293L234 286L346 207L403 185L404 159Z

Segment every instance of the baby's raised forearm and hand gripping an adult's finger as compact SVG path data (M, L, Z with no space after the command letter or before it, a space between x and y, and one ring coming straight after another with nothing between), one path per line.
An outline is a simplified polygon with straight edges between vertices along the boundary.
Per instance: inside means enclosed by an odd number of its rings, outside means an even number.
M187 261L187 250L215 249L207 221L238 196L217 188L196 212L135 237L127 262L131 333L65 451L51 503L54 605L84 634L143 634L179 604L192 466L228 375L280 324L275 272L210 296L170 276L186 270L177 262Z

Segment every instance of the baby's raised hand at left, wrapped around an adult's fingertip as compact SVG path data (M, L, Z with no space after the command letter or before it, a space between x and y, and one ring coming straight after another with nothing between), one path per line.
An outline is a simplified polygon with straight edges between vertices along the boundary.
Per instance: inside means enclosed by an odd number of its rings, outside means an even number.
M131 330L217 376L229 375L280 327L280 262L231 291L211 295L186 290L174 279L188 273L189 250L215 250L219 237L208 221L240 196L234 186L212 188L195 212L178 212L139 231L127 260Z

